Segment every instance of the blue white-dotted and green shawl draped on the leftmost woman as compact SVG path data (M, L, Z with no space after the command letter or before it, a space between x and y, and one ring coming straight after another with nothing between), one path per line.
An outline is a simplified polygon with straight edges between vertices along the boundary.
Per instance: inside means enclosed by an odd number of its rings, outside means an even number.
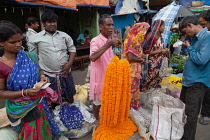
M39 81L39 69L36 56L33 53L18 52L15 65L7 82L7 90L20 91L33 88ZM31 111L41 98L27 101L6 100L7 115L13 126L21 123L21 119Z

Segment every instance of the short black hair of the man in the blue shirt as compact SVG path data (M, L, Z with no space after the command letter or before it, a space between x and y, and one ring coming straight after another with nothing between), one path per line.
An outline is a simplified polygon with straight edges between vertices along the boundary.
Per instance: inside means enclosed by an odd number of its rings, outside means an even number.
M199 25L198 17L196 17L196 16L184 17L179 24L179 30L181 30L183 28L187 28L187 24L189 24L189 23L192 23L194 25Z

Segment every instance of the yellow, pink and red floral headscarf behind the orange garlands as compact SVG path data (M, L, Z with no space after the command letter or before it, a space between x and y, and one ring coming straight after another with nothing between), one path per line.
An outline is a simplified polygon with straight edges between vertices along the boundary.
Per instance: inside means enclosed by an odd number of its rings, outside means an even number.
M131 28L124 41L123 54L132 52L134 55L138 56L139 49L144 43L145 34L149 29L150 25L146 22L136 23Z

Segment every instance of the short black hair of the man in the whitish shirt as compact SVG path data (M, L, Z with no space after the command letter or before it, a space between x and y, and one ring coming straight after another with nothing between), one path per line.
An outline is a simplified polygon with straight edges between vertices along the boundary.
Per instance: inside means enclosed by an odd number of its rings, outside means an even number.
M42 13L41 20L43 23L45 23L46 21L58 21L58 16L52 10L46 9Z

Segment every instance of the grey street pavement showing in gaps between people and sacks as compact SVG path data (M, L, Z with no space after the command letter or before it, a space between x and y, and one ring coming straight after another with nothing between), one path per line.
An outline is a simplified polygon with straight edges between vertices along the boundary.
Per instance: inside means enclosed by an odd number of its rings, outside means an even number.
M75 85L83 85L85 84L85 77L87 73L87 65L85 66L85 70L81 71L80 69L72 70L72 75L74 77ZM5 106L5 101L0 100L0 108ZM209 125L201 125L198 123L197 133L195 140L210 140L210 124ZM92 140L92 133L82 138L72 139L72 140ZM135 133L134 136L128 138L127 140L142 140L138 133Z

